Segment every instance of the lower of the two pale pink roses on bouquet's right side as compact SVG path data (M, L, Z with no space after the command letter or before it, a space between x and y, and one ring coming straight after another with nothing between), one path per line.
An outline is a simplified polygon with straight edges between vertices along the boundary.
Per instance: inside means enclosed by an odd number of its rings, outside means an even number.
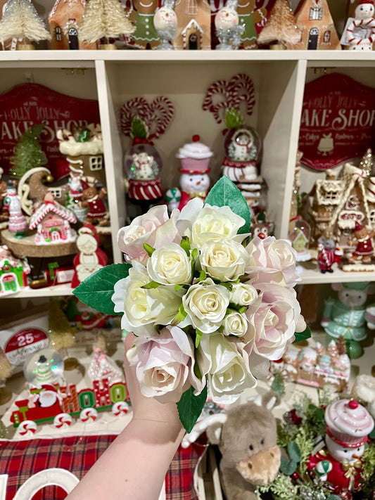
M300 326L300 305L293 288L264 283L258 287L261 302L245 312L249 322L246 332L246 352L271 360L280 359L293 342Z

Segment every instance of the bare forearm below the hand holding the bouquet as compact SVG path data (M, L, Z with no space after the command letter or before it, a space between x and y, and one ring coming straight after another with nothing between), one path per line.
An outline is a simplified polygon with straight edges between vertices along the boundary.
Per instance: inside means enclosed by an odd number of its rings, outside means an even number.
M184 432L134 419L82 478L67 500L158 500Z

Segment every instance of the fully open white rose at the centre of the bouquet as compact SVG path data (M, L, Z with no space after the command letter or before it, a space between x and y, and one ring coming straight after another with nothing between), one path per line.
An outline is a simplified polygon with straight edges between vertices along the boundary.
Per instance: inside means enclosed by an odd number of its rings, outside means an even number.
M206 278L192 285L182 297L186 318L179 323L181 328L193 325L203 333L212 333L220 327L229 305L229 290L215 285Z

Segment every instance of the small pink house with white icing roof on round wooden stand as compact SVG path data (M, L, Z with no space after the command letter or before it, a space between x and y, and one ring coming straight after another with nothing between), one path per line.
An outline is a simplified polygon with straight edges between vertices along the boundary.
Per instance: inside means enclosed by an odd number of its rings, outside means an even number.
M46 193L44 203L30 218L30 229L37 229L35 245L75 241L77 233L70 227L75 222L75 214L57 203L51 193Z

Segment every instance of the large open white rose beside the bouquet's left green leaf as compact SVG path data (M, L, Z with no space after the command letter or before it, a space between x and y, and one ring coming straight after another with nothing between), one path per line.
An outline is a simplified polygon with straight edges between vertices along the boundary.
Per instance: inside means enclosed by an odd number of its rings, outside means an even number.
M170 286L142 288L151 279L145 267L133 261L129 276L115 283L112 301L115 312L123 312L121 328L136 335L155 335L156 325L170 323L177 314L184 290L176 292Z

